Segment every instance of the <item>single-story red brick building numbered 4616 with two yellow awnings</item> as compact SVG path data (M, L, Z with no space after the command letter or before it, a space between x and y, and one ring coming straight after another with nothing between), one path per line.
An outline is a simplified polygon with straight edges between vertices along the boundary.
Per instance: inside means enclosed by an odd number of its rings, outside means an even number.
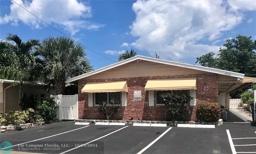
M78 83L79 119L104 119L98 111L101 101L121 102L113 119L165 120L164 92L186 93L190 120L196 118L196 104L220 103L229 107L229 93L255 83L242 73L135 56L79 75L66 81Z

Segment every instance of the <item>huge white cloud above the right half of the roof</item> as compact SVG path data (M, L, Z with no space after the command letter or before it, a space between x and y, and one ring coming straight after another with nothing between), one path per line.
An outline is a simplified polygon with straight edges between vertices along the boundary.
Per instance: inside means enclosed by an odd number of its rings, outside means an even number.
M194 53L217 52L219 46L215 44L223 32L232 30L242 22L244 10L254 9L244 5L235 9L236 3L233 2L232 8L229 8L228 2L138 0L132 6L136 19L130 28L131 35L139 38L130 45L149 53L177 52L163 53L164 57L172 60L184 58L184 55L186 58L195 57ZM212 45L198 44L198 41L205 39Z

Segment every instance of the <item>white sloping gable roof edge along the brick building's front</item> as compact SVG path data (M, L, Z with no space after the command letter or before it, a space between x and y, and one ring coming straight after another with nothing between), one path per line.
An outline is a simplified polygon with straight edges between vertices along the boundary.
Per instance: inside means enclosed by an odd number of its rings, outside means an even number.
M68 79L67 81L65 81L66 83L69 82L73 82L82 78L85 78L87 76L91 76L106 70L109 70L111 68L120 66L120 65L124 65L127 63L130 63L132 61L135 60L146 60L146 61L151 61L151 62L156 62L156 63L161 63L161 64L167 64L167 65L173 65L173 66L179 66L179 67L185 67L185 68L190 68L190 69L195 69L195 70L200 70L200 71L205 71L205 72L210 72L210 73L217 73L217 74L221 74L221 75L228 75L228 76L233 76L233 77L237 77L237 78L244 78L244 74L242 73L236 73L236 72L231 72L231 71L226 71L226 70L221 70L221 69L216 69L216 68L210 68L210 67L204 67L204 66L198 66L198 65L192 65L192 64L186 64L186 63L180 63L180 62L175 62L175 61L170 61L170 60L163 60L163 59L157 59L157 58L151 58L151 57L146 57L146 56L134 56L132 58L129 59L125 59L123 61L102 67L100 69L94 70L92 72L89 73L85 73L79 76L76 76L74 78Z

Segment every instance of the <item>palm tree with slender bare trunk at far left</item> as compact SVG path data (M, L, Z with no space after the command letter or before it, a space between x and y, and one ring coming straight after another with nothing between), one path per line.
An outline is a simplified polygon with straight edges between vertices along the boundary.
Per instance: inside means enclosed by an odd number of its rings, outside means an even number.
M35 57L35 47L40 44L39 40L31 39L28 42L22 42L20 37L8 33L6 36L8 42L1 42L1 65L2 73L11 73L15 84L19 83L19 110L22 109L21 95L24 81L34 79L31 71L36 65L38 58Z

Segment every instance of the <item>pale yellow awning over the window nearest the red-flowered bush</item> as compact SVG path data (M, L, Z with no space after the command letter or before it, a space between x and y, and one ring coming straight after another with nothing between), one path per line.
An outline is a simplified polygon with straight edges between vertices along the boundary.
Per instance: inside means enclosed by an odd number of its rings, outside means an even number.
M145 90L196 90L196 78L148 80Z

